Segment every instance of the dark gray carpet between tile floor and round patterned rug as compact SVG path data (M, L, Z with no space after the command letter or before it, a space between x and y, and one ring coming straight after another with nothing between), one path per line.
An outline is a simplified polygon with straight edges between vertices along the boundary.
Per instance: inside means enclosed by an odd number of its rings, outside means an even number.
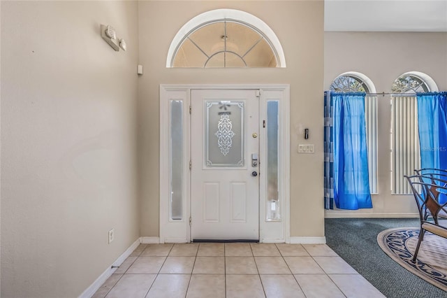
M418 227L417 218L326 218L328 246L388 298L439 298L447 292L411 274L377 244L377 235L393 227Z

